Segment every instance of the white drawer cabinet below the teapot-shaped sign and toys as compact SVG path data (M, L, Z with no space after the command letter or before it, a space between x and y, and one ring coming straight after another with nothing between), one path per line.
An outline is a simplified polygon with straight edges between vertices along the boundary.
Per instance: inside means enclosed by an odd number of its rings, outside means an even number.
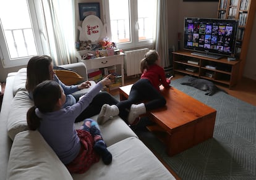
M76 57L80 62L85 63L87 70L105 68L113 65L121 65L122 86L124 86L124 53L83 60L82 55L86 53L88 53L88 51L78 51Z

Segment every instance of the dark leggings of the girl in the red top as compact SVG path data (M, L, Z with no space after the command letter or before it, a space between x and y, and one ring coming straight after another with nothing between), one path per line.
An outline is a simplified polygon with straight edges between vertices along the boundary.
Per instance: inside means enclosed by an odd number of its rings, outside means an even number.
M149 80L140 79L132 85L128 99L122 100L116 105L122 116L125 116L125 113L127 115L126 109L129 109L132 104L138 104L142 101L146 102L146 110L153 110L166 104L164 97L152 86Z

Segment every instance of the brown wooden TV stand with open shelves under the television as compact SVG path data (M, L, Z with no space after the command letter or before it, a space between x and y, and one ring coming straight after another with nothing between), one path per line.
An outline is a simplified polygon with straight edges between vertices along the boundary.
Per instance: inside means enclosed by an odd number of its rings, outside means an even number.
M231 88L237 83L240 60L228 61L228 58L211 59L192 55L192 51L173 52L174 73L183 73L198 78L225 84Z

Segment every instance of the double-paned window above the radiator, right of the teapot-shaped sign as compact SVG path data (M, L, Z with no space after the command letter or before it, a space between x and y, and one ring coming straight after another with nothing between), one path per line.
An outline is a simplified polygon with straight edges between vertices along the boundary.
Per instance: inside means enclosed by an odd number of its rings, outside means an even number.
M111 40L119 48L150 45L155 31L156 0L108 0ZM109 9L109 10L108 10Z

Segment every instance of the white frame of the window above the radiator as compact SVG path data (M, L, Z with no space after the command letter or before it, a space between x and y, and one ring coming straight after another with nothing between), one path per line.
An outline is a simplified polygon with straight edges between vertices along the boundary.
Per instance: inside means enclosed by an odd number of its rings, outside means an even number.
M153 45L152 39L145 39L139 41L139 22L138 22L138 0L129 0L129 23L130 23L130 42L128 43L116 43L119 49L132 49L135 47L145 47ZM107 35L110 39L111 36L111 24L109 15L109 0L105 0L105 17L107 24ZM155 27L155 26L154 26ZM154 30L155 31L155 30Z

